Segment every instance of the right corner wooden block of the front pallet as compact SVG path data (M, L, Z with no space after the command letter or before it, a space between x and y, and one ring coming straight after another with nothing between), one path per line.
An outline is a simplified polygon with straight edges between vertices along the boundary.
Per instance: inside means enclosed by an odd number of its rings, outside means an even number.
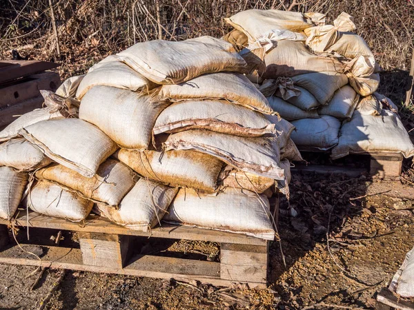
M266 285L268 266L266 246L220 244L220 278L231 282L256 282Z

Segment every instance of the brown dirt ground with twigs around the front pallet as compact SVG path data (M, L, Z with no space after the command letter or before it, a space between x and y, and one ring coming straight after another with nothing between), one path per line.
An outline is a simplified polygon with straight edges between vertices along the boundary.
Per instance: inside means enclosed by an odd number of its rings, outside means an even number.
M286 269L275 241L268 289L67 271L45 309L375 309L375 293L414 244L413 187L366 176L294 175L290 190L279 218ZM170 250L219 259L211 242L179 240ZM30 290L34 269L0 265L0 309L39 307L61 271L46 270Z

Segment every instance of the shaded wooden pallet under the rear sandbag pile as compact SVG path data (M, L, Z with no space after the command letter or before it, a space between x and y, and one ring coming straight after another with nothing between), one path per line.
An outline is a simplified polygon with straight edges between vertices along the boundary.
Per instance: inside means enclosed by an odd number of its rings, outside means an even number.
M330 153L329 151L315 150L312 148L301 147L300 152ZM353 155L363 155L370 157L369 175L379 176L380 178L395 178L400 176L402 171L403 156L393 152L366 152ZM315 172L319 174L346 174L357 177L366 173L364 168L328 165L296 165L292 172Z

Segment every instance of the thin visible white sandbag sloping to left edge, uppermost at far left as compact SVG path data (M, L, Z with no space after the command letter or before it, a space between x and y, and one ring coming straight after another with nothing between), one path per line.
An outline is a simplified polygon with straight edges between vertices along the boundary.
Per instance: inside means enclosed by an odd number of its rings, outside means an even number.
M23 114L0 132L0 142L8 141L11 138L20 136L19 131L23 127L27 127L40 121L59 118L65 118L65 116L63 116L61 112L54 112L54 110L50 107L36 109L32 112Z

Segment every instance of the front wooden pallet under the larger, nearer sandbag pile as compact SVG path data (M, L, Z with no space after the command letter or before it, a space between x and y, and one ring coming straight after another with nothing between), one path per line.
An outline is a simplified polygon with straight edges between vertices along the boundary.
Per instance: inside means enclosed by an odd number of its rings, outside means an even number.
M26 212L25 212L26 213ZM266 287L268 240L210 229L163 223L148 232L135 231L110 223L100 216L89 216L84 225L30 211L13 221L18 227L41 227L76 231L80 249L48 246L41 266L103 273L119 273L152 278L198 280L217 286L234 282L249 287ZM8 242L7 220L0 220L0 262L38 266L37 258L21 258L23 251ZM220 262L133 254L142 237L219 242ZM3 245L3 251L1 246Z

